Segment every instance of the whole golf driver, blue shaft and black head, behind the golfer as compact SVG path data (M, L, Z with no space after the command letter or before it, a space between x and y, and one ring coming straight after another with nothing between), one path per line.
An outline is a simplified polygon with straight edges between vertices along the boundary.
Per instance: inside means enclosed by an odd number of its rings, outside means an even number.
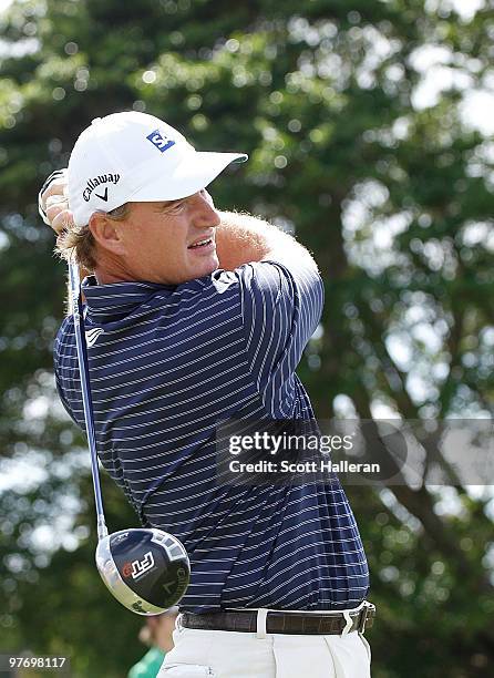
M74 260L69 263L69 278L96 504L96 566L106 587L122 605L138 615L158 615L176 605L184 595L191 578L191 564L183 544L162 530L131 528L109 534L97 466L81 281Z

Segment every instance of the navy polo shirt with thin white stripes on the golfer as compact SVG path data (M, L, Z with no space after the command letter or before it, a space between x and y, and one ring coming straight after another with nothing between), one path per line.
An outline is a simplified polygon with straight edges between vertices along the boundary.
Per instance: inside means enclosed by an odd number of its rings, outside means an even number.
M84 294L100 459L142 523L185 545L181 608L357 606L369 572L338 482L215 483L217 421L313 418L295 369L322 310L318 274L259 261L178 286L89 278ZM54 362L83 428L72 317Z

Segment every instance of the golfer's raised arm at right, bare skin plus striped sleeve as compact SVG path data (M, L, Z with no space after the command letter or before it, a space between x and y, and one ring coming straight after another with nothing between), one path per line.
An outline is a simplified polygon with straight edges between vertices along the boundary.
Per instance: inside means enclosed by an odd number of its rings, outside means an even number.
M274 419L290 418L287 384L320 322L323 282L310 253L290 235L245 214L220 213L220 218L218 259L228 273L213 274L212 285L230 294L264 408Z

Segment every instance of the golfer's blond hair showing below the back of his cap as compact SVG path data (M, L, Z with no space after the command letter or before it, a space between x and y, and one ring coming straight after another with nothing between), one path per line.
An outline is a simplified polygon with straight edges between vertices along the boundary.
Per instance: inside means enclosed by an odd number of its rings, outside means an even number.
M124 203L110 212L103 212L107 217L115 222L122 222L128 216L130 204ZM68 225L56 238L55 254L60 258L69 261L72 256L81 268L88 273L94 273L96 268L96 243L88 225L75 226L74 223Z

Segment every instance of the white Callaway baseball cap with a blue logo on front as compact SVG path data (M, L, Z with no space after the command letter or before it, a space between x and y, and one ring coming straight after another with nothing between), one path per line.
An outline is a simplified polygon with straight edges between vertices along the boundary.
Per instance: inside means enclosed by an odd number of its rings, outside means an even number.
M72 150L69 206L76 226L94 212L128 202L176 201L205 188L245 153L196 151L179 132L146 113L96 117Z

